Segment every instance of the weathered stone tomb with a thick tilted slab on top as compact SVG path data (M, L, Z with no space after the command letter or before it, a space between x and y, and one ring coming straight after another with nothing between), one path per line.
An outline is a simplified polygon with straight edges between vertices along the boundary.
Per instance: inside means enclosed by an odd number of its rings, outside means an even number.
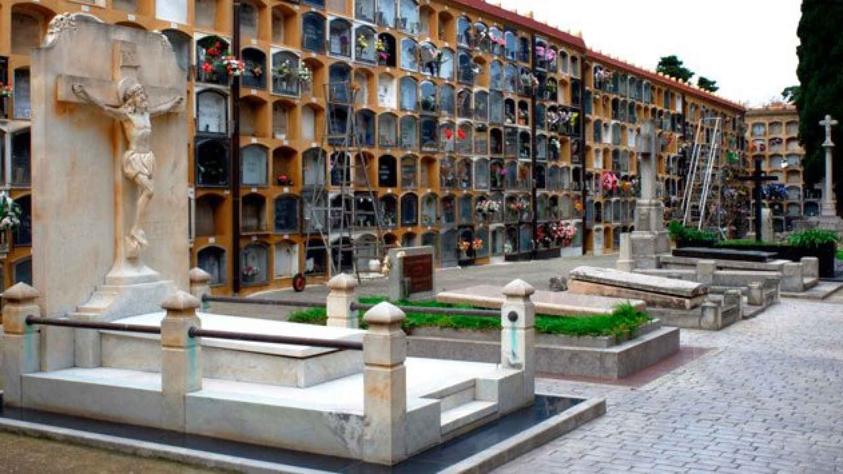
M742 317L737 294L712 297L707 285L615 269L588 266L572 269L568 273L568 290L646 301L647 312L678 328L720 329Z

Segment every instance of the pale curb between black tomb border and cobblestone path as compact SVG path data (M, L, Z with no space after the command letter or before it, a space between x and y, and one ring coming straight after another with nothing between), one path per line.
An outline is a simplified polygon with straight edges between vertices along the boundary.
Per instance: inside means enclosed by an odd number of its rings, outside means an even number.
M560 397L553 395L551 397ZM564 397L564 396L562 396ZM470 473L480 474L489 472L496 467L503 466L513 461L518 456L524 455L541 445L546 445L551 440L563 434L577 429L589 421L599 418L606 413L606 401L604 398L590 398L579 405L559 413L553 418L535 425L506 441L492 445L486 450L460 461L454 466L448 467L441 474Z

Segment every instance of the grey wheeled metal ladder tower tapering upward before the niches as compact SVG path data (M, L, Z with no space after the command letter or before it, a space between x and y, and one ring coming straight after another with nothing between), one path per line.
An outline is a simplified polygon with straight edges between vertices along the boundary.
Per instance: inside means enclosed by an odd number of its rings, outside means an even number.
M350 83L325 85L328 109L325 116L325 132L322 134L319 159L314 170L316 184L310 187L312 195L309 212L305 213L302 233L306 237L305 265L310 250L324 250L325 259L328 261L326 276L330 278L349 269L349 264L344 258L350 257L351 269L357 276L357 281L360 281L361 269L358 260L361 258L361 250L366 248L372 253L367 255L369 259L376 258L383 262L385 244L383 210L369 180L367 160L362 152L362 137L357 128L357 113L354 107L357 93L359 91L352 88ZM328 146L332 148L330 155L326 152ZM352 156L351 152L356 152L357 156ZM324 176L322 183L319 183L319 172ZM361 176L358 173L362 173L365 178L365 189L356 193L352 179ZM335 177L338 179L334 179ZM371 203L370 209L361 209L369 207L362 206L365 202ZM359 239L359 234L364 231L375 234L374 242L362 242ZM311 237L314 233L319 237ZM315 245L311 243L314 240L318 241L314 242ZM365 264L365 272L368 272L368 260Z

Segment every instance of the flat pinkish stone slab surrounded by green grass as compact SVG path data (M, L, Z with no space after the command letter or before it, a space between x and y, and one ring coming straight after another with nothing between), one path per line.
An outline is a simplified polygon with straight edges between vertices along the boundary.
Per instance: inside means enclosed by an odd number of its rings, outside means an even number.
M477 285L461 290L443 291L436 296L436 300L442 303L468 304L482 308L500 309L503 306L504 296L501 293L501 288L497 286ZM530 296L530 301L533 301L536 313L551 316L606 314L612 312L615 306L627 302L620 298L577 295L570 291L542 290L535 291L533 296ZM629 302L640 311L647 307L644 301Z

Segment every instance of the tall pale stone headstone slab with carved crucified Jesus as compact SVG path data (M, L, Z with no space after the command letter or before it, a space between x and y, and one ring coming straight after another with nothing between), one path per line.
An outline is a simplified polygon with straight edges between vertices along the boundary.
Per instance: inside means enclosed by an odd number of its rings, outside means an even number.
M172 45L66 13L31 62L41 312L100 322L157 312L190 269L186 77ZM76 365L99 364L98 337L77 335Z

